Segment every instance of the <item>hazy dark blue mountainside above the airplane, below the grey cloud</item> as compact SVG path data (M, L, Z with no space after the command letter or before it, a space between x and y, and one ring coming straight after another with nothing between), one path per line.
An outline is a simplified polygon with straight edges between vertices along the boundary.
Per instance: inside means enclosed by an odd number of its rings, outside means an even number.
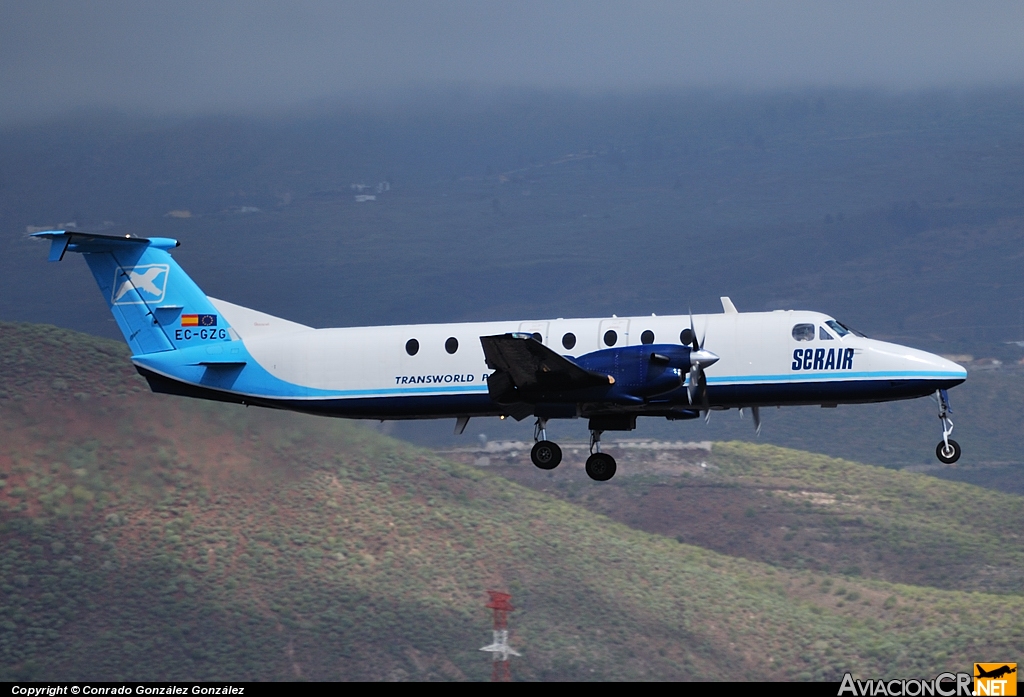
M313 325L731 295L987 349L1024 339L1022 114L1013 90L515 94L7 129L0 313L106 326L88 272L24 239L76 222L181 238L211 295Z

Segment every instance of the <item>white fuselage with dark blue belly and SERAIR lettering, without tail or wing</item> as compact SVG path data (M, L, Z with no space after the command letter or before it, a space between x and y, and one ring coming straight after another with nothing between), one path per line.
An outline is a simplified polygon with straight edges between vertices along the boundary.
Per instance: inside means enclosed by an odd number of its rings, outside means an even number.
M487 399L493 371L480 337L531 334L559 354L578 358L643 344L679 346L691 321L689 315L651 315L316 330L212 302L236 341L206 350L233 352L249 361L226 390L215 387L240 401L354 418L502 413ZM711 406L885 401L931 394L966 378L959 365L925 351L852 333L839 336L829 320L818 312L781 310L692 317L698 340L720 357L707 368ZM800 338L798 325L804 326ZM415 352L408 349L411 340ZM196 364L195 356L188 359ZM172 375L152 361L139 364ZM201 378L195 382L206 384ZM667 399L685 405L686 390ZM587 416L588 408L581 404L577 416Z

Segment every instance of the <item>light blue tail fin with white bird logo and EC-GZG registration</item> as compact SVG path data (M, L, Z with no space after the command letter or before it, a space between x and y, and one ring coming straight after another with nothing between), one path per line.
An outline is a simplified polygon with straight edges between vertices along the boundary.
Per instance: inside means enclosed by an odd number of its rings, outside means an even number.
M50 241L50 261L68 252L85 257L133 354L234 338L227 320L171 257L177 241L71 230L33 236Z

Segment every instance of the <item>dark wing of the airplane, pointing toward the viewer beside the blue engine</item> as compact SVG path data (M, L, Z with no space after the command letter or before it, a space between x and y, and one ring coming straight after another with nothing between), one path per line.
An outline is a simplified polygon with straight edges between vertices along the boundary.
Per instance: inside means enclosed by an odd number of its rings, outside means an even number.
M610 376L588 371L560 356L528 334L480 337L487 366L505 376L497 384L511 382L519 399L531 394L564 392L607 386Z

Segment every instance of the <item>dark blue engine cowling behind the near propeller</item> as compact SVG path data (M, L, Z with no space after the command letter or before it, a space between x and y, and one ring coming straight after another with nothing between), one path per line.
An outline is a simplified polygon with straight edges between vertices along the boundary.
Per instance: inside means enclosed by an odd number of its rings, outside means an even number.
M690 369L690 347L644 344L594 351L572 360L588 371L614 378L608 391L612 399L638 402L682 386Z

